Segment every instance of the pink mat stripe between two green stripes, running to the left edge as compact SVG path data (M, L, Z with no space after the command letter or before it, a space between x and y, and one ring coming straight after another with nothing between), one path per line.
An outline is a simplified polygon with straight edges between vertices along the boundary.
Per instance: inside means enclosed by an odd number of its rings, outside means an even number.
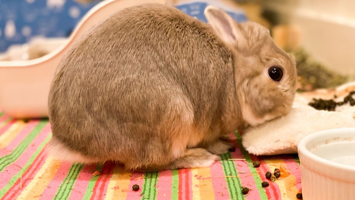
M48 125L46 125L38 136L28 145L27 149L21 154L21 156L18 157L14 164L10 164L0 173L0 188L3 188L10 181L10 179L20 171L20 167L23 168L24 165L26 165L29 158L35 151L37 151L39 145L48 136L49 131L50 125L48 123Z

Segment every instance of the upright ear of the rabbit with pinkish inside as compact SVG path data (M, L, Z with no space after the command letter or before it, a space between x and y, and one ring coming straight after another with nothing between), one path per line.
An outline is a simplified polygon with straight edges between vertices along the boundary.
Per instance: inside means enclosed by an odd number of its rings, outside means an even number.
M229 46L246 46L244 30L227 13L215 6L207 6L204 15L216 35Z

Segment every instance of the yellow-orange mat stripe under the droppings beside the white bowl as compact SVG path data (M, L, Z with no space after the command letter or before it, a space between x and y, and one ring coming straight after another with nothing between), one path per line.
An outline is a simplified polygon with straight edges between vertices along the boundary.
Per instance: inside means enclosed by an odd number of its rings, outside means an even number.
M287 165L282 159L265 160L265 162L270 170L274 170L275 168L280 169L280 166L283 166L285 169L287 169ZM287 177L275 181L275 183L279 186L281 193L280 195L283 200L297 199L296 194L299 190L294 184L296 183L296 177L293 174L289 174Z

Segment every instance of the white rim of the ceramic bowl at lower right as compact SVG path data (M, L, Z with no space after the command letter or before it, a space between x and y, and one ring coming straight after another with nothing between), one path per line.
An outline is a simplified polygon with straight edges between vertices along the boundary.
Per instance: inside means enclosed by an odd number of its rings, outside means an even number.
M308 157L309 159L311 159L315 162L328 165L329 167L355 172L355 167L353 167L353 166L337 163L337 162L328 160L326 158L322 158L322 157L317 156L316 154L312 153L311 151L309 151L306 148L306 145L315 138L318 138L318 137L324 136L324 135L333 135L335 133L337 134L337 137L341 137L341 135L339 135L339 134L345 133L345 132L354 132L354 137L355 137L355 127L333 128L333 129L328 129L328 130L324 130L324 131L318 131L318 132L312 133L310 135L307 135L304 138L302 138L297 145L298 154L299 154L299 156L302 155L302 156Z

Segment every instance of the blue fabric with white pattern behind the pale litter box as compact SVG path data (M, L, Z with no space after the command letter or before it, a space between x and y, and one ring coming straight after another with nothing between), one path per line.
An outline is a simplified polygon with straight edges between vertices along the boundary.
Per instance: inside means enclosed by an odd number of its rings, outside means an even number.
M12 44L26 43L33 36L67 37L98 2L80 4L74 0L0 0L0 52L6 51ZM211 4L206 2L191 1L176 7L206 22L203 11ZM229 14L238 22L246 21L241 11L229 11Z

